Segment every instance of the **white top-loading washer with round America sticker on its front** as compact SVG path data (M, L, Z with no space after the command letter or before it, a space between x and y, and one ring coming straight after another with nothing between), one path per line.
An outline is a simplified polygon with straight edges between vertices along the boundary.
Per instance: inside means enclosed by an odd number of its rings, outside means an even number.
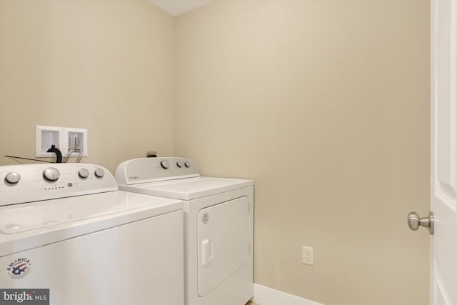
M182 214L180 200L118 191L102 166L0 166L0 289L49 289L51 305L184 304Z

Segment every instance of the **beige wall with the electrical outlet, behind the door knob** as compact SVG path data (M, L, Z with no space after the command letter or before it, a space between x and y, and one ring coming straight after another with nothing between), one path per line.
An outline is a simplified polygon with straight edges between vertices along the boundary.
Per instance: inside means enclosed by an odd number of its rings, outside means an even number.
M428 304L428 235L406 225L428 213L428 39L428 1L214 1L176 18L176 155L255 180L257 284Z

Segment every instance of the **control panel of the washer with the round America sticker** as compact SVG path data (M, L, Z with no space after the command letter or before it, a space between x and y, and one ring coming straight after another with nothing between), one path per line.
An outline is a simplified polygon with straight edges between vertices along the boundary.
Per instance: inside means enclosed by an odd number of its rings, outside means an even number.
M113 175L96 164L0 166L0 206L116 190Z

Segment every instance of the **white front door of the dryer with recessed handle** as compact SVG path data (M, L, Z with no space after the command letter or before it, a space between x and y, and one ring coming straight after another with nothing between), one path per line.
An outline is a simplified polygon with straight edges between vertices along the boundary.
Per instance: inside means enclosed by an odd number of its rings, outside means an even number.
M199 296L205 296L248 262L249 199L201 209L197 221Z

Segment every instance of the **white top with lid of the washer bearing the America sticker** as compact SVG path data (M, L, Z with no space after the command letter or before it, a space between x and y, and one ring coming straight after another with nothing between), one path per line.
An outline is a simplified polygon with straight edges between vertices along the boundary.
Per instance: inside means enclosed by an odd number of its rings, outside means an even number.
M182 209L174 199L110 191L0 207L0 256Z

